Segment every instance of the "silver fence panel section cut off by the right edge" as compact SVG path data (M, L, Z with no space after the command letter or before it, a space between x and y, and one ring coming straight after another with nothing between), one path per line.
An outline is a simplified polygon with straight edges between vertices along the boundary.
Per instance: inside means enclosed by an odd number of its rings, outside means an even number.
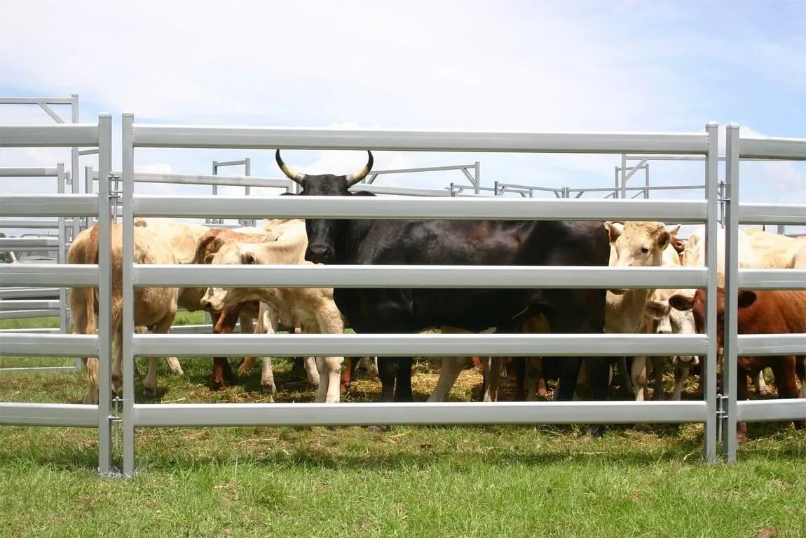
M747 159L806 161L806 139L742 138L727 127L725 250L725 436L723 454L736 461L737 422L806 419L806 399L737 402L737 356L806 355L806 335L737 335L738 290L804 290L806 269L739 269L739 224L806 224L806 205L739 202L739 161ZM742 380L744 381L744 380Z

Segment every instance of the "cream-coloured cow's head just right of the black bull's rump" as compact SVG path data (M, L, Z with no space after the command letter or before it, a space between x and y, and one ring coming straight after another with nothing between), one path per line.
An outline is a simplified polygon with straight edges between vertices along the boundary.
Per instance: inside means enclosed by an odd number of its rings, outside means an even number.
M663 250L669 246L672 233L679 228L667 229L663 223L606 222L610 241L611 267L658 267L663 261ZM624 290L610 290L622 294Z

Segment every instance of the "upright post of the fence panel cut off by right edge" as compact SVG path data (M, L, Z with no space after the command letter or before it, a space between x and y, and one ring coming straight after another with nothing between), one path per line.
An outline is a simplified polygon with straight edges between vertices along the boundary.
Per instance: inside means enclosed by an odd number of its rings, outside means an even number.
M739 127L725 129L725 342L722 352L722 393L725 418L722 421L722 455L736 463L736 391L738 330L738 232L739 232ZM742 380L742 382L747 382Z

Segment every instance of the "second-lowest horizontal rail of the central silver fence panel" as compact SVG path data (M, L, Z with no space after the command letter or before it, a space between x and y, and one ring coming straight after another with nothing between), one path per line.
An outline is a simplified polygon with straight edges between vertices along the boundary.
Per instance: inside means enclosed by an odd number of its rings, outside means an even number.
M703 335L134 335L141 357L622 357L700 355Z

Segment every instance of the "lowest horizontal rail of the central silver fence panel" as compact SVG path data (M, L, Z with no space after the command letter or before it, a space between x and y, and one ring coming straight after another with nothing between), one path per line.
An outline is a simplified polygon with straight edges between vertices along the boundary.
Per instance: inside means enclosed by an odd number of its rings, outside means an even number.
M417 402L137 404L138 427L374 424L691 423L703 402Z

